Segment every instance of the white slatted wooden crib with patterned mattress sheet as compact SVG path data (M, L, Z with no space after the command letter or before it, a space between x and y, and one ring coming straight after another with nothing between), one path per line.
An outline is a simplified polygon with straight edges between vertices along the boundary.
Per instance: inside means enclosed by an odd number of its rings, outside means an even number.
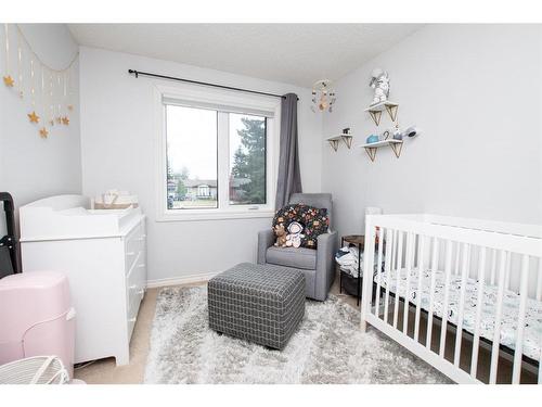
M369 215L361 327L457 383L542 383L542 226Z

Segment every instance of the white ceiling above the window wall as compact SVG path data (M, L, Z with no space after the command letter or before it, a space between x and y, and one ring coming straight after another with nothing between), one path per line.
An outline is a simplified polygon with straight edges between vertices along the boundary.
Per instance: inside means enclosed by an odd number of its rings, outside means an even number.
M336 80L420 24L69 24L81 46L311 87Z

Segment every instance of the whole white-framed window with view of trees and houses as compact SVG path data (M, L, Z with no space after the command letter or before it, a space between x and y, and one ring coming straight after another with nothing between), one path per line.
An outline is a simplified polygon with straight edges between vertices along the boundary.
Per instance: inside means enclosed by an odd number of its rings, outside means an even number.
M158 220L270 216L280 100L158 89Z

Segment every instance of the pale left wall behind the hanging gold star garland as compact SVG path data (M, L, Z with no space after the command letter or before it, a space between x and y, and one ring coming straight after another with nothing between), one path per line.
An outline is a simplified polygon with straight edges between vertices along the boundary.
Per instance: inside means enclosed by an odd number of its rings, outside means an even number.
M39 58L55 68L66 66L77 53L64 24L21 24L21 29ZM16 44L16 28L10 24L12 50ZM0 33L0 67L4 71L4 29ZM14 54L13 54L14 55ZM12 64L14 58L11 59ZM77 73L77 67L74 69ZM12 73L15 77L15 74ZM78 80L75 99L78 98ZM79 139L79 106L76 103L69 126L56 126L49 138L39 137L38 127L28 122L29 98L20 99L17 91L0 86L0 190L13 195L16 206L48 195L80 193L81 164ZM3 230L3 211L0 214ZM3 231L0 231L0 234Z

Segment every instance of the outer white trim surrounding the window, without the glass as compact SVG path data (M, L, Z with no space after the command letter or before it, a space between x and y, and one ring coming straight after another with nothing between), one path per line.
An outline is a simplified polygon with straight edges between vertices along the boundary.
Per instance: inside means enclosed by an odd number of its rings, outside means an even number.
M165 111L164 98L178 98L192 100L195 104L215 103L246 109L248 112L255 109L272 112L268 119L267 129L267 191L268 203L266 205L235 205L225 208L197 208L172 212L167 209L167 190L163 188L166 174L166 138L165 138ZM266 218L274 215L274 195L276 191L279 142L281 120L281 101L271 97L255 97L238 94L238 92L202 88L194 85L179 84L172 86L154 86L155 103L155 196L156 196L156 220L157 221L190 221L190 220L216 220L216 219L243 219ZM223 145L223 144L222 144ZM220 148L221 145L219 145ZM220 155L220 154L219 154ZM220 158L219 158L220 160ZM219 182L222 181L219 174ZM223 183L223 181L222 181ZM222 188L224 190L224 188ZM219 188L220 191L220 188Z

